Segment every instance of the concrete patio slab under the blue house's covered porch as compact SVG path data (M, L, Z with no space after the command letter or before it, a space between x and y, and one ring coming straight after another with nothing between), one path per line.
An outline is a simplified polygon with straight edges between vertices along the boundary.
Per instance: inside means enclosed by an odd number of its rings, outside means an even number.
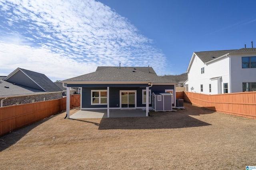
M145 117L142 109L110 110L109 117ZM71 119L107 118L107 110L80 110L70 116Z

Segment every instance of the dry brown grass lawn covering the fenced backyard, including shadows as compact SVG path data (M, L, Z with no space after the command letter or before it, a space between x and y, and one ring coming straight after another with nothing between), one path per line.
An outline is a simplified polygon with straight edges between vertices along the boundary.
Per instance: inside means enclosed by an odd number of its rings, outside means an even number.
M0 167L243 170L256 165L256 120L184 106L138 118L72 120L61 113L0 136Z

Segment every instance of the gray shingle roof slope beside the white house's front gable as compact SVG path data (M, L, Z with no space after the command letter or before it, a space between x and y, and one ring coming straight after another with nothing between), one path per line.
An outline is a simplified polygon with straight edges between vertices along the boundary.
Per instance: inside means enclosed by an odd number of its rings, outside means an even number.
M194 52L204 63L207 63L208 61L211 61L213 59L216 59L218 57L221 57L222 55L231 53L232 51L236 51L237 49L231 49L231 50L221 50L221 51L200 51L200 52Z

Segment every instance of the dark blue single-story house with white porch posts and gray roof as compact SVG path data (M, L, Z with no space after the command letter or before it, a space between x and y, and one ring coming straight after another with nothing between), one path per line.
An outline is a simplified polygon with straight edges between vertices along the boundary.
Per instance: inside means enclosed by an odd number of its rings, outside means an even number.
M176 82L158 76L152 67L98 67L93 73L61 82L66 83L67 88L82 89L82 110L106 109L108 117L109 109L146 109L148 116L153 92L172 93L170 105L176 104ZM68 109L67 116L69 118Z

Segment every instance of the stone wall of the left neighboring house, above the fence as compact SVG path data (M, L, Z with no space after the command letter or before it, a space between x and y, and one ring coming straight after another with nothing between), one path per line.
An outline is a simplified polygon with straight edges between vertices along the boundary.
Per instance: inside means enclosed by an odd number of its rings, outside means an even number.
M45 99L44 99L45 98ZM3 101L3 106L16 105L17 102L19 104L32 103L34 99L35 102L44 101L44 100L54 100L62 98L61 92L58 93L49 93L49 94L41 94L41 95L29 95L29 96L21 96L21 97L10 97ZM4 98L0 98L0 101Z

